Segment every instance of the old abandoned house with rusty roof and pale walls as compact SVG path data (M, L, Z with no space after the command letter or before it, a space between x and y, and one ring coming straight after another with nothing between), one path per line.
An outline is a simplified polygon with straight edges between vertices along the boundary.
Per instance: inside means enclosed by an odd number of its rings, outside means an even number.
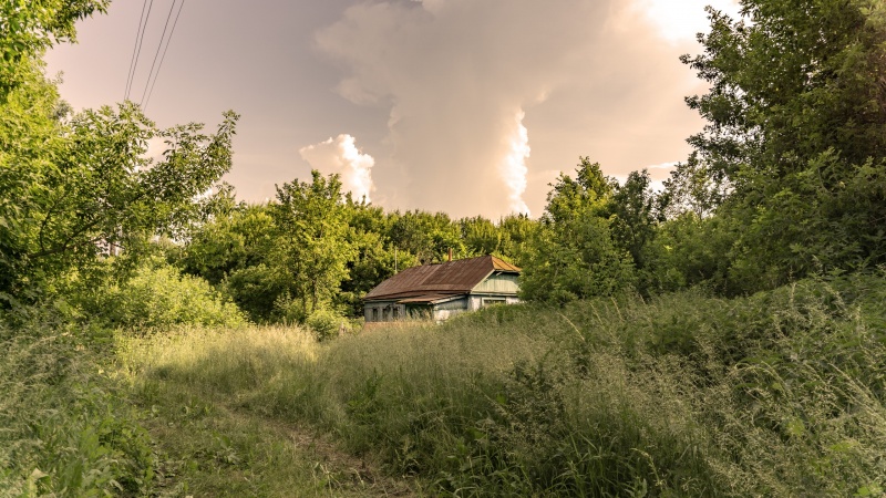
M367 322L446 320L517 299L519 268L494 256L408 268L363 298Z

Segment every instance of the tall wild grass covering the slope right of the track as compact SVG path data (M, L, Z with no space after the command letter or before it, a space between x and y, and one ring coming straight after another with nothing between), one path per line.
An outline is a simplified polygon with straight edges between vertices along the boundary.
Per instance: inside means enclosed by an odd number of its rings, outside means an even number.
M864 291L859 292L859 289ZM130 339L187 382L308 421L454 496L878 496L883 278L493 308L317 344L297 331Z

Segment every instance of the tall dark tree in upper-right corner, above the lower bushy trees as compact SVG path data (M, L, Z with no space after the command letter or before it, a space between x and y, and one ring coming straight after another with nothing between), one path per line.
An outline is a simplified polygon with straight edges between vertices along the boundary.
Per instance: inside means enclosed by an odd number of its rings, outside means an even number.
M687 98L709 122L690 143L733 181L745 166L776 177L800 172L828 149L847 164L883 157L884 9L869 0L743 0L738 22L709 9L704 54L682 56L711 84Z

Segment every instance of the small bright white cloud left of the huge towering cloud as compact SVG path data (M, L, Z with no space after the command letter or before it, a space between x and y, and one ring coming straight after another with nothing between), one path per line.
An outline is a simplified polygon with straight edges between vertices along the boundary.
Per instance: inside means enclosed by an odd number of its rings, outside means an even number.
M375 159L361 153L351 135L330 137L319 144L301 147L298 153L311 168L327 175L340 175L342 190L350 191L354 199L371 200L370 196L375 189L372 184L372 166L375 165Z

